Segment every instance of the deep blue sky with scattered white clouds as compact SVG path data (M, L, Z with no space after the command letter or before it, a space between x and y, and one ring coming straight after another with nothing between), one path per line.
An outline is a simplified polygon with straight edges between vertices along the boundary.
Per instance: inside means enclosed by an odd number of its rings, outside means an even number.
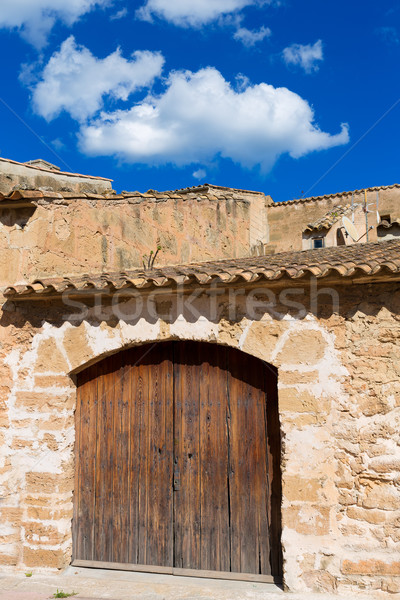
M1 0L0 53L6 158L277 201L400 182L399 2Z

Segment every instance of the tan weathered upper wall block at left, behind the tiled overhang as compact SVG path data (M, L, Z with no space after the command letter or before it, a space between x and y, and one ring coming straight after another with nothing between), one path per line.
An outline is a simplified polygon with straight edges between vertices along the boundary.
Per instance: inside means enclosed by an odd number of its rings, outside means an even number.
M155 266L250 256L257 235L266 230L251 206L244 198L182 196L53 200L42 201L34 212L4 209L0 286L142 268L143 256L158 242Z

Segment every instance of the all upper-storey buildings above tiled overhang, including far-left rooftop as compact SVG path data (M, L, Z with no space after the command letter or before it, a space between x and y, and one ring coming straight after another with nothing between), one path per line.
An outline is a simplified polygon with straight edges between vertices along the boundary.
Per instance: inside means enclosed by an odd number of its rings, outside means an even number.
M0 286L142 268L158 247L156 267L347 245L342 215L352 203L360 236L365 204L370 211L361 241L400 234L399 185L283 203L209 184L117 195L108 179L0 159Z

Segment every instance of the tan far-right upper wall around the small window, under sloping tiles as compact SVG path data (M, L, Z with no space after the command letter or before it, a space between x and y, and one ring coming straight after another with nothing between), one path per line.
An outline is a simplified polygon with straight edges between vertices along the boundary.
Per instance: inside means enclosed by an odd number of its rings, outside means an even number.
M376 190L367 191L367 203L370 204L368 215L369 225L374 229L369 233L369 241L377 241L376 233ZM268 207L268 223L270 229L270 243L265 248L265 253L287 252L302 250L302 234L309 223L315 223L335 206L351 204L351 192L321 198L295 201L291 204L276 203ZM354 193L354 203L364 204L364 191ZM378 209L381 215L390 214L400 217L400 187L380 188ZM364 222L359 224L361 233L365 233ZM361 235L360 233L360 235ZM366 238L363 238L366 241Z

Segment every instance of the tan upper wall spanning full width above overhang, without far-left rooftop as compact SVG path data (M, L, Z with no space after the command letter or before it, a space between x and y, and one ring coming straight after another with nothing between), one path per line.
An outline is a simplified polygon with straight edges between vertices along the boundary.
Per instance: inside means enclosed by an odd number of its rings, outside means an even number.
M141 268L143 257L158 245L156 266L308 249L312 241L307 235L303 239L305 227L351 202L349 193L274 204L260 192L216 186L97 198L54 196L35 199L31 208L2 208L0 203L0 286ZM363 198L360 192L354 200ZM375 190L368 191L367 201L369 225L374 226L368 239L376 241ZM400 217L399 187L380 189L379 211ZM360 234L365 231L360 208L356 226ZM335 241L337 227L328 233L327 245Z

